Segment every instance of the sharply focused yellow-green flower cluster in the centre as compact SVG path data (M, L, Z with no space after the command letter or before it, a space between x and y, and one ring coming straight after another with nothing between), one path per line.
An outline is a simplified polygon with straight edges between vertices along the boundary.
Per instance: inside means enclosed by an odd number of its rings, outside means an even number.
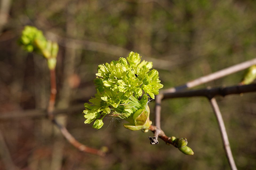
M118 61L99 65L94 80L97 94L89 100L91 104L85 103L85 123L96 120L93 128L100 129L103 118L109 113L128 119L139 109L147 109L147 94L154 99L163 87L158 71L150 71L151 68L152 62L141 62L139 54L134 52L130 52L127 60L121 57Z

